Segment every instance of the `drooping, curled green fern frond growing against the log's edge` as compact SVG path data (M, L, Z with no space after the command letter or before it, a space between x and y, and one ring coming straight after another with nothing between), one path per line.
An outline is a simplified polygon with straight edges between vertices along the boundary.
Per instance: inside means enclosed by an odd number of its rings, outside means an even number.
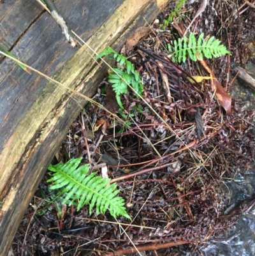
M128 84L133 87L133 89L139 95L143 92L143 84L140 80L139 73L135 70L135 67L132 65L131 61L125 56L118 54L111 47L107 47L101 54L96 56L96 59L103 57L108 54L113 54L113 58L116 59L117 63L123 68L113 68L114 73L109 75L108 82L112 84L112 89L115 91L116 100L121 109L124 109L121 100L120 94L128 93Z

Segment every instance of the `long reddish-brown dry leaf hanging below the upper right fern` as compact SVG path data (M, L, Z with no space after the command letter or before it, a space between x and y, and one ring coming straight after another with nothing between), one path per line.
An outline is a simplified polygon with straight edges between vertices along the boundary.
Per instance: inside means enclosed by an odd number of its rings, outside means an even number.
M231 114L231 96L224 90L221 86L220 82L216 79L214 72L208 67L207 63L204 60L200 61L200 64L205 68L205 70L210 74L212 77L211 79L211 86L212 90L215 91L215 96L219 101L220 105L226 110L226 114Z

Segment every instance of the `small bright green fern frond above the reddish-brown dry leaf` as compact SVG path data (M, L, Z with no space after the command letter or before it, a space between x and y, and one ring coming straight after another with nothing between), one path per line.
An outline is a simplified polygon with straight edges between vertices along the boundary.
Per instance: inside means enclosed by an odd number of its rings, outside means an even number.
M178 41L173 41L174 50L172 50L171 46L168 45L168 50L173 52L171 56L172 61L185 62L187 54L189 54L189 57L193 61L203 59L203 54L208 59L212 59L212 57L220 57L226 54L231 55L231 53L226 49L226 46L221 45L221 41L219 39L215 39L214 36L212 36L208 40L205 40L203 39L203 36L204 33L201 33L198 37L198 41L196 41L194 33L190 33L188 44L187 36L184 36L183 40L179 38Z

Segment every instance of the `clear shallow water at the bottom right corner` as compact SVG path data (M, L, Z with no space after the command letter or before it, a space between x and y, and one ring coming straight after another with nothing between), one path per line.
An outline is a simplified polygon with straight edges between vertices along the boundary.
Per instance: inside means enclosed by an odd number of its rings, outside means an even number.
M241 200L254 198L254 181L255 172L251 170L249 173L237 174L233 181L228 182L231 199L226 211L237 206ZM210 245L202 246L201 251L205 256L255 255L255 207L243 215L236 225L220 236L213 237Z

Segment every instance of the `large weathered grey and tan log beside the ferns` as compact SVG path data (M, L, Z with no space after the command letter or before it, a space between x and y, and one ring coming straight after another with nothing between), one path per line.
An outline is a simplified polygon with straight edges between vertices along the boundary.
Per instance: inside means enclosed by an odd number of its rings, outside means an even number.
M32 1L8 0L0 4L1 44L3 41L2 45L18 59L64 86L92 96L105 67L94 62L91 51L69 47L50 15L39 4L28 2ZM167 2L55 3L69 27L101 52L108 45L119 50L129 34L152 22ZM17 11L20 6L22 13ZM15 15L20 17L16 24L11 22ZM10 29L16 32L8 34ZM0 64L0 72L0 254L6 255L45 170L85 100L35 72L25 73L7 58Z

